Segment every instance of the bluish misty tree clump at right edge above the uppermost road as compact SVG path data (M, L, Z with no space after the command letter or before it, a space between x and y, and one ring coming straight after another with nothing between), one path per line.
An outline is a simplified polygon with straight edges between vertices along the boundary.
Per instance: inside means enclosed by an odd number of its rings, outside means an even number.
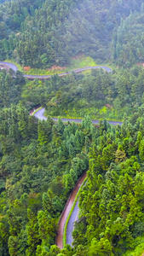
M143 11L130 13L113 33L112 55L118 65L130 67L135 62L143 62L143 20Z

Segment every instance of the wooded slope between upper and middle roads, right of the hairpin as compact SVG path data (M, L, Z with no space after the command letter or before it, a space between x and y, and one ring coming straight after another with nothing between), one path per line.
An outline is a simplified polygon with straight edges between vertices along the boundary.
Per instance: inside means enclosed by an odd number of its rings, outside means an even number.
M46 113L52 116L70 116L83 118L89 114L92 119L123 119L143 106L144 70L134 67L117 73L104 73L93 70L90 75L71 75L65 79L54 77L47 82L45 99ZM25 91L27 100L37 94ZM33 93L32 93L33 92Z

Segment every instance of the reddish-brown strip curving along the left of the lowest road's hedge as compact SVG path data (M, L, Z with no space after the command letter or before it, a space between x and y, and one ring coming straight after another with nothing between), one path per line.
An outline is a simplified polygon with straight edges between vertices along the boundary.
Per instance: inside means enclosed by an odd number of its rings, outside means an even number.
M57 247L60 247L60 249L62 249L62 239L63 239L63 231L64 231L64 226L66 223L66 218L68 217L68 214L72 208L72 204L75 200L75 197L78 193L78 190L80 189L82 183L84 182L84 178L86 177L86 172L84 173L84 175L82 177L80 177L78 179L78 183L76 184L75 188L72 190L72 194L70 195L67 203L66 203L66 207L64 209L64 211L61 214L60 217L60 222L59 222L59 230L58 230L58 235L56 237L56 245Z

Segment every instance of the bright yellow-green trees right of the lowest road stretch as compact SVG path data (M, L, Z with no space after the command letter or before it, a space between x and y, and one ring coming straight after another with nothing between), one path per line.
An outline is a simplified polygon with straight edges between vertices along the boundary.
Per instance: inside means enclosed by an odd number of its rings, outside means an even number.
M141 119L138 117L137 125L125 121L119 130L119 140L116 132L112 141L107 140L112 131L104 130L96 139L97 147L90 148L88 181L80 194L80 219L73 232L76 248L87 245L85 254L128 255L127 250L136 253L135 247L137 252L141 247L137 238L143 236L144 177L143 160L139 157L142 150L136 150ZM130 153L130 144L123 148L125 138L130 137L138 158Z

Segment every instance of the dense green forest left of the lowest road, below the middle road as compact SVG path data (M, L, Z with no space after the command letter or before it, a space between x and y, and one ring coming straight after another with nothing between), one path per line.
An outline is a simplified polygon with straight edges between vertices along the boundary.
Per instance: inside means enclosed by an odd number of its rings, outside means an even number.
M60 212L88 168L90 119L37 122L21 103L0 119L0 253L41 255L55 244Z

